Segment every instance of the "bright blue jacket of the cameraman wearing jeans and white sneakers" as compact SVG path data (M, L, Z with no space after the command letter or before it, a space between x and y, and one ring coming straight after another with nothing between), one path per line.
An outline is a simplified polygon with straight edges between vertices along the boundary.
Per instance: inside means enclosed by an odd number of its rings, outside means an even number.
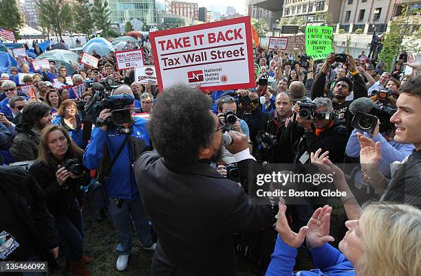
M149 146L149 134L147 133L147 121L139 117L133 117L135 120L131 133L132 136L144 139ZM90 170L98 168L102 160L104 146L108 147L110 159L118 152L118 149L125 140L125 135L119 135L115 130L103 131L95 127L91 133L91 142L88 144L85 154L83 154L83 165ZM134 177L131 165L135 160L131 159L131 149L129 141L122 150L116 163L111 168L111 172L105 183L107 194L111 198L131 199L139 196L138 186Z

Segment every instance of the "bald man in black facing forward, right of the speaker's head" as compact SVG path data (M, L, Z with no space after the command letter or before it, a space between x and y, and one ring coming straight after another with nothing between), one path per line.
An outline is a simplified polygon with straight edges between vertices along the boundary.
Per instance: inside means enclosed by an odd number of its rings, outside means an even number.
M261 159L270 163L292 163L294 156L290 143L281 143L281 137L290 122L291 97L280 92L275 97L275 110L268 113L265 126L259 135L265 133L266 139L261 138ZM270 137L269 135L272 135ZM259 139L258 139L259 140Z

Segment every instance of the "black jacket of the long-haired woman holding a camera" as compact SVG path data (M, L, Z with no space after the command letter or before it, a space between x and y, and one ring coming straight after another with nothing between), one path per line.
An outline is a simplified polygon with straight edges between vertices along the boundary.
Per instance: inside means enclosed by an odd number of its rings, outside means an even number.
M71 158L69 156L69 158ZM82 161L80 161L82 164ZM85 176L80 179L67 178L64 185L58 185L56 172L58 168L52 168L43 161L37 159L30 167L30 173L34 176L36 182L47 194L48 209L54 218L70 217L79 213L79 207L75 198L78 194L80 185L88 185L90 176L85 171ZM67 188L66 188L67 187Z

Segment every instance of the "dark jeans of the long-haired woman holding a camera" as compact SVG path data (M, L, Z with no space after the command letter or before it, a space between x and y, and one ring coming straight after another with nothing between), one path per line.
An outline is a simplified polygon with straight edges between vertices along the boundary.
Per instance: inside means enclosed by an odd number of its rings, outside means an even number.
M77 261L83 255L83 220L80 213L72 218L59 217L56 220L58 234L66 242L66 258Z

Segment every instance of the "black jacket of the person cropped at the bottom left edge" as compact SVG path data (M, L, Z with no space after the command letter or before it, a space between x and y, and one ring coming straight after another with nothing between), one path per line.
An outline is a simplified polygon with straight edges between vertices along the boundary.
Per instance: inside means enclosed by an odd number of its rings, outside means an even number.
M1 200L0 208L4 210L6 205L10 205L19 214L19 217L6 218L20 220L25 227L18 231L28 235L32 248L36 249L41 260L57 266L50 249L58 246L61 238L54 227L54 218L47 209L45 193L30 173L21 167L0 166L0 179L0 193L9 199ZM1 230L5 229L2 227Z

